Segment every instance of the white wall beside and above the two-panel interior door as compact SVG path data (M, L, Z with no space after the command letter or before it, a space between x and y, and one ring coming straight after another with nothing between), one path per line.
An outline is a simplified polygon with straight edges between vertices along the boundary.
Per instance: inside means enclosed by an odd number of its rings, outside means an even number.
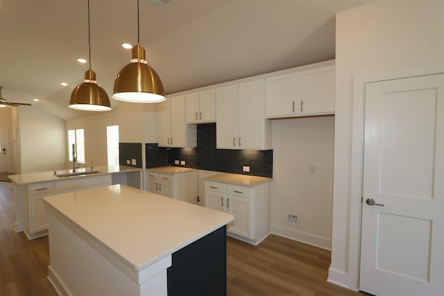
M374 1L336 15L333 232L329 281L359 288L359 254L353 249L359 242L354 236L350 236L351 241L349 238L350 229L360 227L359 220L352 219L350 223L350 200L354 198L350 195L353 78L362 73L443 59L444 1ZM360 200L359 196L356 198Z

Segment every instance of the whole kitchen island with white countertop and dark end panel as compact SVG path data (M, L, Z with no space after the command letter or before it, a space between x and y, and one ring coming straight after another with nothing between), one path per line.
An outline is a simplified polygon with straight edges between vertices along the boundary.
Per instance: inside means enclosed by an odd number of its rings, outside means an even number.
M60 295L225 295L233 216L124 185L43 198Z

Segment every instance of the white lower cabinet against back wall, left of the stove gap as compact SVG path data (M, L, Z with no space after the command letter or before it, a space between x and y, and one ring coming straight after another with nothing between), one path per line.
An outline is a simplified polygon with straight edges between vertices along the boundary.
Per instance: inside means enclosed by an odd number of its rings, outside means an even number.
M146 170L148 191L159 195L200 204L197 195L197 171L159 173Z

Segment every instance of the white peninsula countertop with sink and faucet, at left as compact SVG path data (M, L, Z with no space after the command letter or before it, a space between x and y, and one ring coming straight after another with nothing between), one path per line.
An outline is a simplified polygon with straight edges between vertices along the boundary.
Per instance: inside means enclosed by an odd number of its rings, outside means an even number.
M103 175L103 174L115 174L115 173L127 173L131 171L142 171L142 168L134 168L131 166L97 166L93 168L94 171L99 171L100 173L91 174ZM91 171L91 168L76 168L76 172ZM72 173L72 169L57 171L57 174ZM41 173L25 173L19 175L9 175L10 180L14 181L18 185L25 185L37 182L46 182L54 180L66 180L67 178L74 177L88 177L88 175L81 176L71 176L71 177L56 177L54 172L41 172Z

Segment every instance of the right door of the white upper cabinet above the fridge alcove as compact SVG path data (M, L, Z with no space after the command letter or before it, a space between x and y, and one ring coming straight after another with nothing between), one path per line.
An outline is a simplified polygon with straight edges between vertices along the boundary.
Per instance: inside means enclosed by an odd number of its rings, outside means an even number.
M300 115L334 114L334 64L300 72Z

